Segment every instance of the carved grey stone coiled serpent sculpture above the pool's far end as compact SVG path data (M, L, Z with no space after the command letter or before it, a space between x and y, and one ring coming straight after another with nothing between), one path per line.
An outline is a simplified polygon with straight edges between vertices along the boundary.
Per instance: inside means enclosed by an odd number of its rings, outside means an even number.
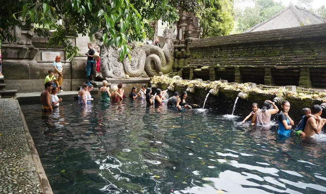
M119 50L114 46L107 47L103 44L102 33L95 34L97 44L101 48L101 73L104 78L148 77L159 75L160 72L167 74L173 65L173 42L171 30L165 28L163 49L154 45L136 47L130 52L131 60L125 58L119 61Z

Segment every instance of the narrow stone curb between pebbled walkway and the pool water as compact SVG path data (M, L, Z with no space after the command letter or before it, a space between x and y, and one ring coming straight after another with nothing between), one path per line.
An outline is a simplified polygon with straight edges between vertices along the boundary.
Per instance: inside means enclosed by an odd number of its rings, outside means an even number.
M35 165L35 168L36 168L36 174L37 174L38 180L40 182L41 189L42 189L44 194L53 194L53 191L52 191L52 188L50 186L48 177L45 174L45 171L43 169L43 165L42 165L41 160L39 158L39 155L37 153L33 138L31 136L31 134L29 133L29 129L28 129L27 124L26 124L25 116L21 111L19 101L17 99L15 101L16 101L16 104L17 104L17 107L18 107L18 110L19 110L19 114L20 114L20 117L21 117L21 122L22 122L23 130L24 130L24 136L25 136L25 138L27 140L27 144L28 144L28 147L29 147L30 152L31 152L30 154L32 155L32 158L33 158L33 161L34 161L34 165Z

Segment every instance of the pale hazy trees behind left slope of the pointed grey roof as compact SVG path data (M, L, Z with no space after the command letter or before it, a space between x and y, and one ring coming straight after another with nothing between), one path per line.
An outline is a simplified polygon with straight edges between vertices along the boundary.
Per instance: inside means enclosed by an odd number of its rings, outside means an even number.
M238 31L244 32L254 25L271 18L273 15L285 9L281 2L273 0L256 0L254 8L246 7L239 17Z

